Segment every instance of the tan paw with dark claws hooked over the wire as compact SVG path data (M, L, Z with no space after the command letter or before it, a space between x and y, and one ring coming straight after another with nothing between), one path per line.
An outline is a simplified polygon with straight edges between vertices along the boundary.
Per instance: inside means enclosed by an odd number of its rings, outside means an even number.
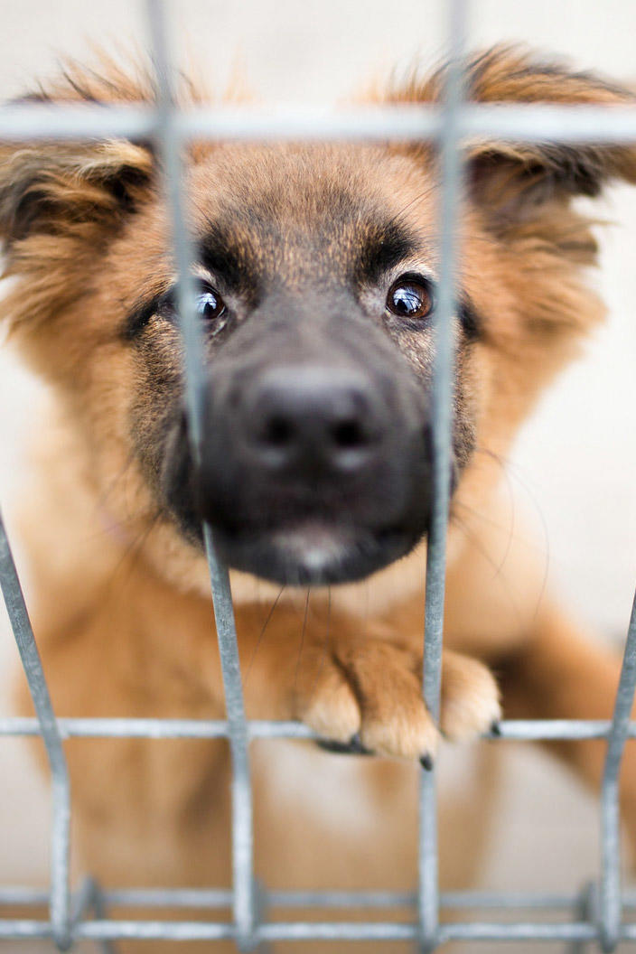
M310 655L297 675L296 716L331 751L417 758L428 768L440 732L479 736L501 716L492 674L458 653L443 655L439 728L422 699L420 653L368 638Z

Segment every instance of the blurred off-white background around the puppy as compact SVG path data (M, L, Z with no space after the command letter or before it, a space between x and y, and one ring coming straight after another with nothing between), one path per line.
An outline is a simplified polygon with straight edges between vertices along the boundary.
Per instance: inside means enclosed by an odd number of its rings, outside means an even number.
M434 63L443 50L444 9L443 0L178 0L171 15L184 63L195 62L219 93L240 76L265 99L324 102L416 56ZM107 49L146 45L145 6L132 0L0 0L0 24L3 98L50 73L60 53L86 57L94 42ZM636 81L634 36L633 0L472 4L471 46L521 40L623 81ZM599 638L618 642L636 583L636 194L613 188L594 211L611 223L600 232L595 278L608 321L525 427L509 474L564 603ZM24 438L36 433L42 395L7 349L0 372L0 500L10 525ZM8 712L15 653L0 620L0 711ZM46 790L21 743L0 740L0 764L0 882L41 883ZM499 801L484 885L567 890L589 879L596 805L559 766L510 746ZM0 949L26 952L31 945Z

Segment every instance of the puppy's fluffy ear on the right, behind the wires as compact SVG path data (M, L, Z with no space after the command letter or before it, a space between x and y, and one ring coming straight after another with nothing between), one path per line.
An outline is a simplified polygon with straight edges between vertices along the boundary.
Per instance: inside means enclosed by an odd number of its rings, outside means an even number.
M444 71L413 77L390 98L436 102ZM556 103L636 106L636 95L591 73L542 63L517 47L497 46L465 64L467 98L482 103ZM494 225L504 224L551 199L596 196L606 181L636 182L636 149L550 142L473 142L468 147L472 195Z

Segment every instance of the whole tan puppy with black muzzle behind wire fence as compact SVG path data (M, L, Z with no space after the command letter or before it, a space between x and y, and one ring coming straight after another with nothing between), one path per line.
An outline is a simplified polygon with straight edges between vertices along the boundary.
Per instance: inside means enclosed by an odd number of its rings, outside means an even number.
M484 103L635 102L509 48L471 59L466 81ZM441 87L442 73L418 75L384 99L436 102ZM72 66L29 98L153 93L110 64ZM247 715L396 759L257 749L258 876L412 886L418 763L440 733L478 736L500 717L488 665L506 716L612 710L619 661L544 592L498 486L519 426L603 315L585 282L596 244L572 200L636 181L636 153L469 144L439 725L421 699L439 157L421 144L213 143L185 165L208 372L198 465L160 157L121 139L2 147L2 309L56 402L21 528L53 703L60 716L224 716L207 520L234 570ZM598 782L602 744L561 753ZM229 883L225 743L75 741L69 757L83 863L103 883ZM631 763L623 796L636 835ZM464 878L480 835L454 835Z

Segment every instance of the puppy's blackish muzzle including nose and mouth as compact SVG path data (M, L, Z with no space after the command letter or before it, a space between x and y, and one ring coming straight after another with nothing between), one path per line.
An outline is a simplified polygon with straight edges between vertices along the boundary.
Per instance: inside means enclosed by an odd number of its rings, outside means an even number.
M211 365L200 467L173 452L167 484L190 487L173 508L208 521L236 569L290 584L368 575L427 528L421 381L368 322L260 330Z

